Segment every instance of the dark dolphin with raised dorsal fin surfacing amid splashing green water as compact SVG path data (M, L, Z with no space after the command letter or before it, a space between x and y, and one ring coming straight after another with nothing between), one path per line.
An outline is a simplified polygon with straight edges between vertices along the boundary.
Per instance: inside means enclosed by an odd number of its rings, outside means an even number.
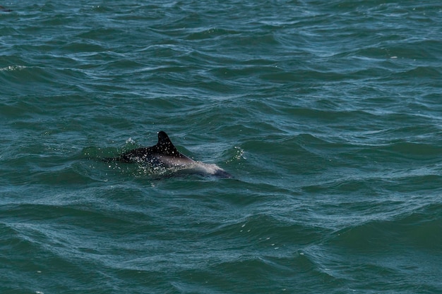
M169 136L163 131L158 132L157 145L133 149L124 152L119 157L105 158L103 160L108 162L138 162L140 164L148 164L154 170L162 168L178 173L198 173L220 178L232 178L232 175L216 164L205 164L201 161L195 161L180 153L172 144Z

